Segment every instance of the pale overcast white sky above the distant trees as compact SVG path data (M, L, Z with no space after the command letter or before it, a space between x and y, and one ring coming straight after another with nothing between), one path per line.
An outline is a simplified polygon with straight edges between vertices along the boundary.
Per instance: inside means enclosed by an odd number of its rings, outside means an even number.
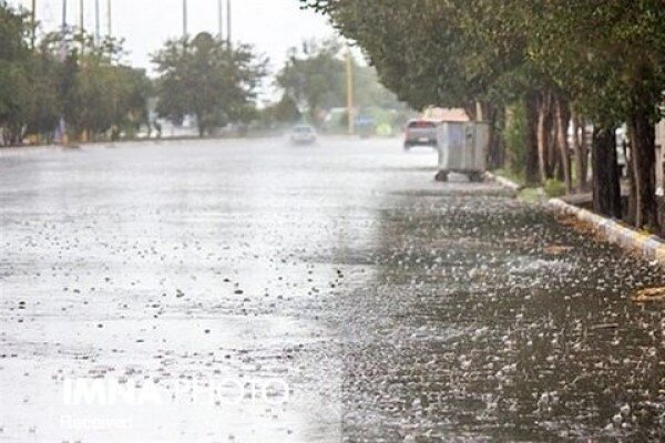
M68 22L79 24L81 0L64 0ZM218 32L218 0L187 0L188 33ZM226 1L224 12L226 14ZM37 0L37 20L47 31L61 23L63 0ZM14 6L31 7L31 0L10 1ZM106 32L108 0L99 0L100 27ZM95 0L83 0L85 28L94 30ZM183 0L111 0L112 29L115 37L125 39L130 52L127 62L137 68L151 69L150 54L168 38L183 32ZM324 17L299 9L297 0L232 0L233 41L250 43L270 59L270 68L277 71L286 58L288 48L304 39L326 38L335 34ZM226 24L226 18L224 18Z

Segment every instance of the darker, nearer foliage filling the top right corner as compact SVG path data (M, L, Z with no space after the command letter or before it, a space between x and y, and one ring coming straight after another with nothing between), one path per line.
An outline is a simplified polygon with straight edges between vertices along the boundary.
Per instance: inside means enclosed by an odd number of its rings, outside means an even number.
M548 2L524 8L528 54L593 122L614 127L635 110L654 120L665 89L665 8L659 0Z

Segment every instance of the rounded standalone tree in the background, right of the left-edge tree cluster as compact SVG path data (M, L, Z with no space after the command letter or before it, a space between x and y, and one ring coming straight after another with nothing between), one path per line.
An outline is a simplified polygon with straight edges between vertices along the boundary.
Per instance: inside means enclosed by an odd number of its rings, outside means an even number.
M160 74L157 112L172 122L196 116L200 135L255 116L254 99L267 61L241 44L208 33L167 41L153 55Z

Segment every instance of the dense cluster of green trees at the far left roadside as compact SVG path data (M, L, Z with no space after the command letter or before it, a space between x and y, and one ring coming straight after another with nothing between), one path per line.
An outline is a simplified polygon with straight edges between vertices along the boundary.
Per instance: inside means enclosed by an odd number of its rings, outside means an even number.
M120 63L121 42L73 29L32 35L28 13L0 2L0 145L117 138L146 122L151 84Z

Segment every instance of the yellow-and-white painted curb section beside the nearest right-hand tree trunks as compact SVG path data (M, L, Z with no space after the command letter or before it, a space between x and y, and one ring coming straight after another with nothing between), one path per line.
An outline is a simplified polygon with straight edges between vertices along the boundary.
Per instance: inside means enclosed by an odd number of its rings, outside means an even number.
M548 206L560 214L575 216L580 220L592 225L610 243L635 250L647 259L655 260L659 265L665 266L665 241L659 237L641 234L613 219L567 204L561 198L550 199Z

